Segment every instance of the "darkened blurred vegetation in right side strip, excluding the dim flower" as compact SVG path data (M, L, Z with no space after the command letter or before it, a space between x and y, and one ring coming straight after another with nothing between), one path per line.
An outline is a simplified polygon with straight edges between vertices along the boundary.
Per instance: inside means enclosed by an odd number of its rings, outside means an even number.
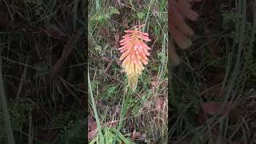
M255 8L250 0L194 4L197 36L172 67L173 143L256 142Z

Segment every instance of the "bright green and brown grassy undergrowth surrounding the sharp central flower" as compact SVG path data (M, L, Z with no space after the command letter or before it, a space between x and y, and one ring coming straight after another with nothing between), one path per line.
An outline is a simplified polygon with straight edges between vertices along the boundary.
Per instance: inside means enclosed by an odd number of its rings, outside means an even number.
M89 18L89 139L167 143L167 1L89 1ZM150 56L130 90L119 41L142 24Z

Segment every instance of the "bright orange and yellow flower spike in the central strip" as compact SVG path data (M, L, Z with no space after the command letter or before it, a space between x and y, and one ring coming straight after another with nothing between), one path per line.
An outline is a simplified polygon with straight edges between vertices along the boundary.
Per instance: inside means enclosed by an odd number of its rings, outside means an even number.
M142 25L145 26L145 25ZM146 46L145 42L150 42L149 34L143 33L139 30L142 26L134 26L134 30L125 30L125 35L120 41L122 67L126 71L128 77L128 85L134 90L138 83L138 77L142 74L144 66L149 61L147 56L150 55L148 50L151 50L149 46ZM133 29L132 28L132 29Z

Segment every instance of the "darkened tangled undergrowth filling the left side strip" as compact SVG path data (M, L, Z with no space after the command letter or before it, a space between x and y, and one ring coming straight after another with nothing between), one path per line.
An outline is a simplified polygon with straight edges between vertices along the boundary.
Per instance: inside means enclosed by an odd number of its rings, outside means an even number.
M0 143L86 141L83 6L81 0L0 1Z

